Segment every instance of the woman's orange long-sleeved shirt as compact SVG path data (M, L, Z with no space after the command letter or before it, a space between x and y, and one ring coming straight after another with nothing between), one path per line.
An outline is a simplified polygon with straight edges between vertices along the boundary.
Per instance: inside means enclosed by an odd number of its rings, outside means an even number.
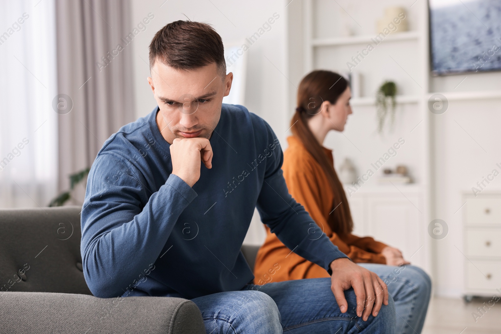
M334 209L332 207L334 195L329 187L327 176L299 138L289 136L287 141L289 147L284 152L282 170L292 197L305 207L332 243L354 262L385 264L386 259L380 252L387 246L386 244L375 241L371 237L358 237L353 234L341 239L332 231L328 220L329 213ZM334 165L332 150L325 147L324 150ZM267 237L258 251L254 267L256 284L290 279L330 277L324 268L291 252L274 233L270 232L268 226L265 225L265 228Z

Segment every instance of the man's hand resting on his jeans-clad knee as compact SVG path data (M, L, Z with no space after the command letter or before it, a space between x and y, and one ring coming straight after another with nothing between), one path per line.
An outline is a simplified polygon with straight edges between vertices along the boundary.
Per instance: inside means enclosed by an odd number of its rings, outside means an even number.
M332 269L331 290L342 313L348 309L344 291L350 287L353 287L357 296L357 316L363 315L364 321L367 321L371 312L373 316L376 316L382 303L388 305L386 284L374 272L345 257L335 259L330 267Z

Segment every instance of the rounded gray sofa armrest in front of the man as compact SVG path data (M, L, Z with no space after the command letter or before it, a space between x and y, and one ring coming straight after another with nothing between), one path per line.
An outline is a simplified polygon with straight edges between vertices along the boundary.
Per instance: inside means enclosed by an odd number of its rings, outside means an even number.
M0 314L9 333L205 333L196 304L175 297L0 291Z

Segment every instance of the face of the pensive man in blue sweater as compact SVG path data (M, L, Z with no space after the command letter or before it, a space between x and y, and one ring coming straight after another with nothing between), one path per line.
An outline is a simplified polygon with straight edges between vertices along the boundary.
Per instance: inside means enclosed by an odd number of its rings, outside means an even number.
M156 61L148 83L160 108L157 124L165 140L172 144L175 138L210 139L232 79L231 72L221 78L215 63L184 71Z

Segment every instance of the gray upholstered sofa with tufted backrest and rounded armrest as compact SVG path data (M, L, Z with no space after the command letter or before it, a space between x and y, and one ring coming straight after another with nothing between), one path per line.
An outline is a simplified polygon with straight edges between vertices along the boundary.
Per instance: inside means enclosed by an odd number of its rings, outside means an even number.
M0 333L205 333L188 299L93 296L82 272L80 210L0 210ZM258 248L242 246L251 268Z

